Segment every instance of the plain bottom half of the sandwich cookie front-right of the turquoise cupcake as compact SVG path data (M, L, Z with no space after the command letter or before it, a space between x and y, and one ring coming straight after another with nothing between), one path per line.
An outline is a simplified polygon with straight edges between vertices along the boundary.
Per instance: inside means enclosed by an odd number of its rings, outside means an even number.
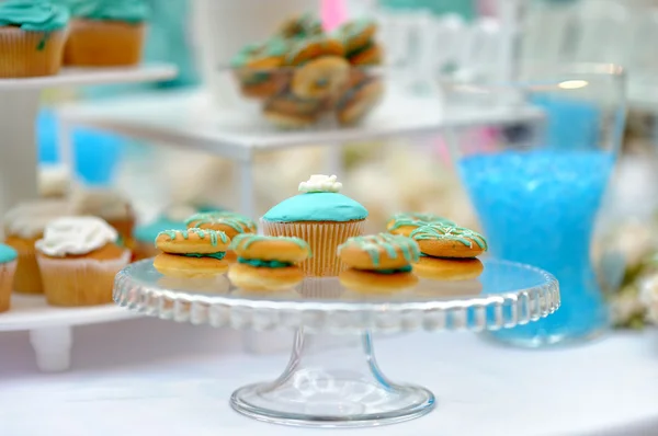
M356 268L341 272L338 279L348 289L373 294L395 292L418 284L418 277L411 273L382 274Z

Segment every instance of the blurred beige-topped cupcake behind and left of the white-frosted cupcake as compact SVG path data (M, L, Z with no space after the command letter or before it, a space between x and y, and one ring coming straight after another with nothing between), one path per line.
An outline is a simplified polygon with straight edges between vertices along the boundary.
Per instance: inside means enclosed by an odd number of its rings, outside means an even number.
M15 291L43 294L34 243L43 237L49 221L71 214L71 205L66 200L42 199L19 204L4 215L4 243L19 255L14 275Z

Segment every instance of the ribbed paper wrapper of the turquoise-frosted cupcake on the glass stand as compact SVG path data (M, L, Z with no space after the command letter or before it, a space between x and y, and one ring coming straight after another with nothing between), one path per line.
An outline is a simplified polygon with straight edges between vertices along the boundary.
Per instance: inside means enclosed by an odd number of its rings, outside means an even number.
M268 236L296 237L310 245L313 257L299 264L307 276L333 277L348 268L337 255L338 245L363 234L364 220L348 222L269 222L261 219Z

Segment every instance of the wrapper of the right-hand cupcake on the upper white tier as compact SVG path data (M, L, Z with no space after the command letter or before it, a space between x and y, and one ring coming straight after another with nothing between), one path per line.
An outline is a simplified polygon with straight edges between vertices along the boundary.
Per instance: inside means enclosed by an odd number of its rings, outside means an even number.
M121 21L72 20L64 64L115 67L139 64L146 26Z

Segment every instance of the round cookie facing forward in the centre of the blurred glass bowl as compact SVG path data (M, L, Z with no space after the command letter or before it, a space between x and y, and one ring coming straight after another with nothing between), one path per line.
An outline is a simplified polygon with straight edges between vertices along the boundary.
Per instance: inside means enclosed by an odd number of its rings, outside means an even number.
M320 100L336 96L350 78L350 64L338 56L309 60L295 69L291 90L300 99Z

